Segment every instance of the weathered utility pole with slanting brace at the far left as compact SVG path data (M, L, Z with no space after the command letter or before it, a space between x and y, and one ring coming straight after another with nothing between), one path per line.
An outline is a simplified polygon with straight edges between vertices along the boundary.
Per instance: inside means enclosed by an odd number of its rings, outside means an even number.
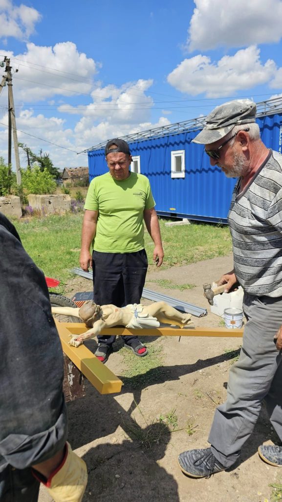
M19 154L19 144L18 144L18 135L17 135L17 125L16 125L16 115L15 115L15 105L14 105L14 97L13 97L13 83L12 83L12 67L10 66L10 58L5 56L4 64L6 63L5 72L6 75L3 76L3 80L0 84L0 91L8 84L8 113L9 113L9 124L8 124L8 163L11 165L11 135L13 131L13 140L14 140L14 149L15 149L15 158L16 158L16 174L17 174L17 183L21 185L22 176L21 176L21 165L20 165L20 154ZM0 66L4 66L1 63Z

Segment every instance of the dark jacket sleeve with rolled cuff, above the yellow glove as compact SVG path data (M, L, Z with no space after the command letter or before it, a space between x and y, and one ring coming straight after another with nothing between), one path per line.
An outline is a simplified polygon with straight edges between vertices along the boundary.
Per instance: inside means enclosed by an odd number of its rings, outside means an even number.
M44 274L0 213L0 470L42 462L65 444L63 352Z

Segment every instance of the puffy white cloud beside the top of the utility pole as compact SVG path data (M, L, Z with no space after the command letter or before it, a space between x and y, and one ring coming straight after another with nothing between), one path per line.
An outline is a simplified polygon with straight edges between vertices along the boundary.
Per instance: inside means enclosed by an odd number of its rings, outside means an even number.
M78 52L73 42L61 42L54 47L28 43L26 52L17 55L0 51L11 58L14 69L19 69L13 77L17 101L34 102L58 94L90 93L93 75L100 67L92 58Z

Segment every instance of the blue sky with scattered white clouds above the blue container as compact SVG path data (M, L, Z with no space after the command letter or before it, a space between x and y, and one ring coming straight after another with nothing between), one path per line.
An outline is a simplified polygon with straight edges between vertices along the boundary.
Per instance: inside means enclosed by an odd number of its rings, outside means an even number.
M280 95L281 37L281 0L0 0L18 139L60 169L86 166L76 152L107 139ZM7 110L4 87L6 161Z

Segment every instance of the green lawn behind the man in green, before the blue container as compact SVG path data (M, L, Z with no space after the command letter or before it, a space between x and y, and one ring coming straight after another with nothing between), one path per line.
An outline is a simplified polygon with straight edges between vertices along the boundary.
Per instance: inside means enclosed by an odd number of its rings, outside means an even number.
M13 220L23 245L35 263L48 277L62 282L56 291L65 293L65 285L73 275L70 270L79 267L80 236L83 213L67 213L45 217ZM227 226L192 223L167 227L160 220L165 250L163 268L186 265L200 260L231 253L231 240ZM153 242L145 231L145 247L149 264L152 263ZM190 289L192 284L159 283L169 289Z

